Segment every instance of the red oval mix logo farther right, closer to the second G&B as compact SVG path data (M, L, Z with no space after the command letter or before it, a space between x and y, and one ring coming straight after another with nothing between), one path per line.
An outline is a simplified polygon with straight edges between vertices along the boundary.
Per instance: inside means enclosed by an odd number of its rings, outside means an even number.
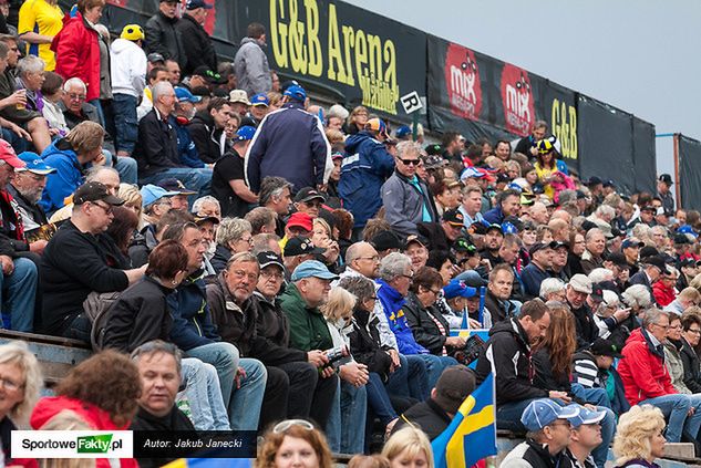
M516 135L528 135L536 118L536 111L527 71L508 63L504 64L502 102L506 129Z

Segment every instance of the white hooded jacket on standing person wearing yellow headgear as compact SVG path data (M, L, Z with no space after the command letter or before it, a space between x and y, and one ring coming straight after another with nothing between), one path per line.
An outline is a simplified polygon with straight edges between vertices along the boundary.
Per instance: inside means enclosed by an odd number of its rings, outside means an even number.
M146 54L135 42L115 39L110 46L112 92L138 100L146 87Z

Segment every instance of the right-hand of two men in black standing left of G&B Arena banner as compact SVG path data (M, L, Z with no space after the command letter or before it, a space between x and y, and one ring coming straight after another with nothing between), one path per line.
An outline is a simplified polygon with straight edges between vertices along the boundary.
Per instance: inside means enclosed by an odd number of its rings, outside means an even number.
M217 53L214 51L212 38L204 28L207 12L213 8L205 0L187 0L185 14L175 24L183 38L184 53L187 58L187 64L182 71L183 76L189 76L202 65L209 70L217 70Z

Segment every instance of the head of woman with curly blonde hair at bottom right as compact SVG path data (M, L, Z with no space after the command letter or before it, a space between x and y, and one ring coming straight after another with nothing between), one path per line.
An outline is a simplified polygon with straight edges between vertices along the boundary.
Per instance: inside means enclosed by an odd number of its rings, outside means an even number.
M664 455L664 416L652 405L633 406L621 415L614 439L617 468L659 467Z

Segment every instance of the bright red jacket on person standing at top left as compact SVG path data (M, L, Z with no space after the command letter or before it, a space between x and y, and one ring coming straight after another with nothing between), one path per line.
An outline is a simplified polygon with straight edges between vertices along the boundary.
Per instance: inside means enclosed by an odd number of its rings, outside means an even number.
M80 12L64 20L63 29L51 43L56 54L55 72L65 80L79 77L87 85L86 101L100 97L100 43Z

